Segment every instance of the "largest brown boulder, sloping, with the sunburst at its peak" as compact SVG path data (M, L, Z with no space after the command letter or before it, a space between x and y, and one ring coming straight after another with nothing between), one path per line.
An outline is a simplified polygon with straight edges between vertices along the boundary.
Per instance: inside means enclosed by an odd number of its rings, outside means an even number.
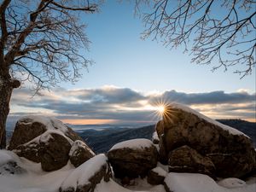
M160 158L164 163L172 150L188 145L212 160L218 177L242 177L256 165L256 154L249 137L191 108L174 103L166 106L156 131L160 137Z

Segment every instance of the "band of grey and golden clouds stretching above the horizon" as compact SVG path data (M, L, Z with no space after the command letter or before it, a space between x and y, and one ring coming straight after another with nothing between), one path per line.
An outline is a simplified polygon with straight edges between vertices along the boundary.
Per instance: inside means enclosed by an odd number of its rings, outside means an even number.
M59 119L113 119L117 123L157 120L150 103L165 100L180 102L214 119L253 119L255 93L247 91L225 93L222 90L207 93L185 93L166 90L162 94L143 94L129 88L104 86L98 89L43 92L30 95L26 89L15 90L11 100L9 120L20 115L41 113Z

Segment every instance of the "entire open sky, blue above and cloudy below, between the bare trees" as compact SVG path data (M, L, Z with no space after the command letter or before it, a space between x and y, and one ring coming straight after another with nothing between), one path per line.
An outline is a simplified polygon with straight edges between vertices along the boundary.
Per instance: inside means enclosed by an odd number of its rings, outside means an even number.
M23 84L11 100L9 122L21 115L55 116L71 124L152 124L153 101L180 102L213 119L255 121L255 70L240 79L233 69L191 63L183 47L169 49L143 40L143 22L134 5L107 1L99 13L85 15L94 61L76 84L61 83L42 96Z

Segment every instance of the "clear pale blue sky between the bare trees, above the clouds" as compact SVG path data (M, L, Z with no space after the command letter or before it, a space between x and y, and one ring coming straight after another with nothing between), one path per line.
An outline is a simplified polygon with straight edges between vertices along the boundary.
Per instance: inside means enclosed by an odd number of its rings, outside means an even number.
M201 92L240 89L255 91L255 71L240 79L232 68L211 72L212 66L191 63L183 48L168 49L150 38L141 39L143 22L134 16L133 4L108 1L101 12L84 17L88 24L90 52L85 52L95 64L84 71L83 79L64 87L96 88L105 84L135 90L183 90Z

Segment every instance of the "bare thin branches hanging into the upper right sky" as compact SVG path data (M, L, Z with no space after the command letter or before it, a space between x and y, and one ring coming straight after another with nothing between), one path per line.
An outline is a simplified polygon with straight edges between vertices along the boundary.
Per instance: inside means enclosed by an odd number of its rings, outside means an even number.
M184 45L194 55L192 61L213 63L213 71L235 66L241 78L253 72L256 1L136 0L136 9L147 13L143 38L160 38L171 48Z

